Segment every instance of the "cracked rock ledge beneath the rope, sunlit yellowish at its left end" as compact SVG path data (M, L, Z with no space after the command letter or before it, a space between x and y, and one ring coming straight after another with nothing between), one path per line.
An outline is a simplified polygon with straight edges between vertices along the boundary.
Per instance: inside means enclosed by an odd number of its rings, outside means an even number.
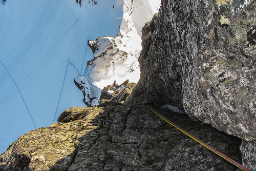
M184 113L158 110L241 162L240 139L191 121ZM26 133L0 156L0 170L176 169L237 168L139 104L69 108L58 123Z

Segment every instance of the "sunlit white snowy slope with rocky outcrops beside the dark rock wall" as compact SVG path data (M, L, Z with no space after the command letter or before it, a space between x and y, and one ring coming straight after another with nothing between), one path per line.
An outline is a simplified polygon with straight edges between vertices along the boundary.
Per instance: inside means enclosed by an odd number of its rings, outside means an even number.
M88 42L94 59L88 62L83 74L74 80L88 106L98 105L100 90L104 86L112 85L114 81L121 84L127 79L137 83L140 78L138 58L141 29L158 12L160 0L132 2L124 1L123 21L118 36Z

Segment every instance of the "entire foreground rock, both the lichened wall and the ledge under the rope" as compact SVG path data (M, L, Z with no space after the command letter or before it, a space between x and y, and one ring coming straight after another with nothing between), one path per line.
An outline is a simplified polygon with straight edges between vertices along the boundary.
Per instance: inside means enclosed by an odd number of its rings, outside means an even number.
M126 102L133 105L113 104L123 92L119 91L116 98L115 92L102 95L110 102L104 107L67 109L58 123L30 131L12 143L0 156L0 170L238 169L138 101L178 106L194 121L185 113L154 107L227 156L255 168L255 30L251 20L255 3L162 3L160 13L143 28L142 77ZM115 85L104 88L104 92L114 90ZM196 118L243 138L242 145L241 139Z

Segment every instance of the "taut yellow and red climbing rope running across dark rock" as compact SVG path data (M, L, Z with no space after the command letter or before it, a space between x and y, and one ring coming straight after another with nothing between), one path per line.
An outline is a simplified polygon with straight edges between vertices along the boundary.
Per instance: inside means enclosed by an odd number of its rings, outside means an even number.
M246 168L245 166L243 166L242 164L234 161L233 159L227 157L226 155L224 155L223 153L221 153L220 151L218 151L217 149L215 149L214 147L206 144L205 142L203 142L202 140L198 139L197 137L191 135L189 132L185 131L184 129L182 129L181 127L179 127L178 125L176 125L175 123L169 121L168 119L166 119L165 117L163 117L159 112L157 112L155 109L153 109L151 106L146 105L146 107L148 107L151 111L153 111L154 113L156 113L156 115L158 115L160 118L162 118L164 121L166 121L167 123L169 123L170 125L174 126L175 128L177 128L178 130L180 130L181 132L183 132L183 134L187 135L188 137L190 137L191 139L195 140L196 142L200 143L201 145L203 145L204 147L208 148L209 150L211 150L212 152L214 152L215 154L217 154L218 156L222 157L223 159L227 160L228 162L232 163L233 165L236 165L237 167L245 170L245 171L251 171L250 169Z

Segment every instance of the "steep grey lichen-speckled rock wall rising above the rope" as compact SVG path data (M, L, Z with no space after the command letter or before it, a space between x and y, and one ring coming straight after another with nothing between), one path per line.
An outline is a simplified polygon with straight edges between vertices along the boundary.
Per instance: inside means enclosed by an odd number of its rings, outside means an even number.
M163 0L142 30L141 78L130 97L167 103L256 140L255 1Z

